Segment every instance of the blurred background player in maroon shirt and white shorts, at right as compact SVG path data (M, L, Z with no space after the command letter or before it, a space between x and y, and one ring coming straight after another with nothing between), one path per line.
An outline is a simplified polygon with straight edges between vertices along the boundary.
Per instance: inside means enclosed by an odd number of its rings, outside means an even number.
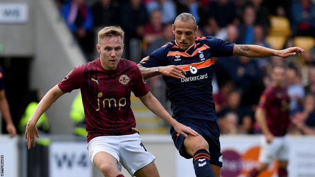
M257 176L275 158L279 161L279 177L287 177L289 140L287 130L290 124L290 97L284 85L285 66L275 66L272 71L273 84L261 95L255 118L264 134L259 155L259 164L249 172L248 177Z

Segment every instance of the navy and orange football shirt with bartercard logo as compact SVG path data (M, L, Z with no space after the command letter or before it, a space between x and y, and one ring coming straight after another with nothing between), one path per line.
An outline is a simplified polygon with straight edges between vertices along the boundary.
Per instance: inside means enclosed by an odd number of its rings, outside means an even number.
M176 65L183 68L186 78L163 76L174 118L217 121L211 83L213 64L215 57L232 56L234 45L217 38L196 37L192 46L181 51L172 41L149 54L138 65L146 68Z

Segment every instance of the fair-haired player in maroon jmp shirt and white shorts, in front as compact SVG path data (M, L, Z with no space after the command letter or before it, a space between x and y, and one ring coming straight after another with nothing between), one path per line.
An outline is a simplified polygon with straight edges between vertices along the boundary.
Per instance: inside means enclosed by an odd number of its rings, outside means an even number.
M138 66L121 59L123 35L120 27L109 26L98 33L97 51L100 58L75 67L43 97L26 126L28 148L39 138L36 123L39 117L61 95L81 89L89 157L106 177L123 177L121 167L131 176L158 177L155 157L146 150L135 127L135 117L130 108L130 93L157 116L175 127L175 130L198 136L197 132L178 123L149 92Z

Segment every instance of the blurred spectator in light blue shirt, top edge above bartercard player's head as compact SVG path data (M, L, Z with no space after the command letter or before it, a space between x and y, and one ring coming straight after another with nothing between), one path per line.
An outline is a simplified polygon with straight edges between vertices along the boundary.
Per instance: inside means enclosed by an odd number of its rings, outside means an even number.
M175 3L171 0L152 0L146 4L146 8L149 14L160 9L163 23L173 23L177 15Z

